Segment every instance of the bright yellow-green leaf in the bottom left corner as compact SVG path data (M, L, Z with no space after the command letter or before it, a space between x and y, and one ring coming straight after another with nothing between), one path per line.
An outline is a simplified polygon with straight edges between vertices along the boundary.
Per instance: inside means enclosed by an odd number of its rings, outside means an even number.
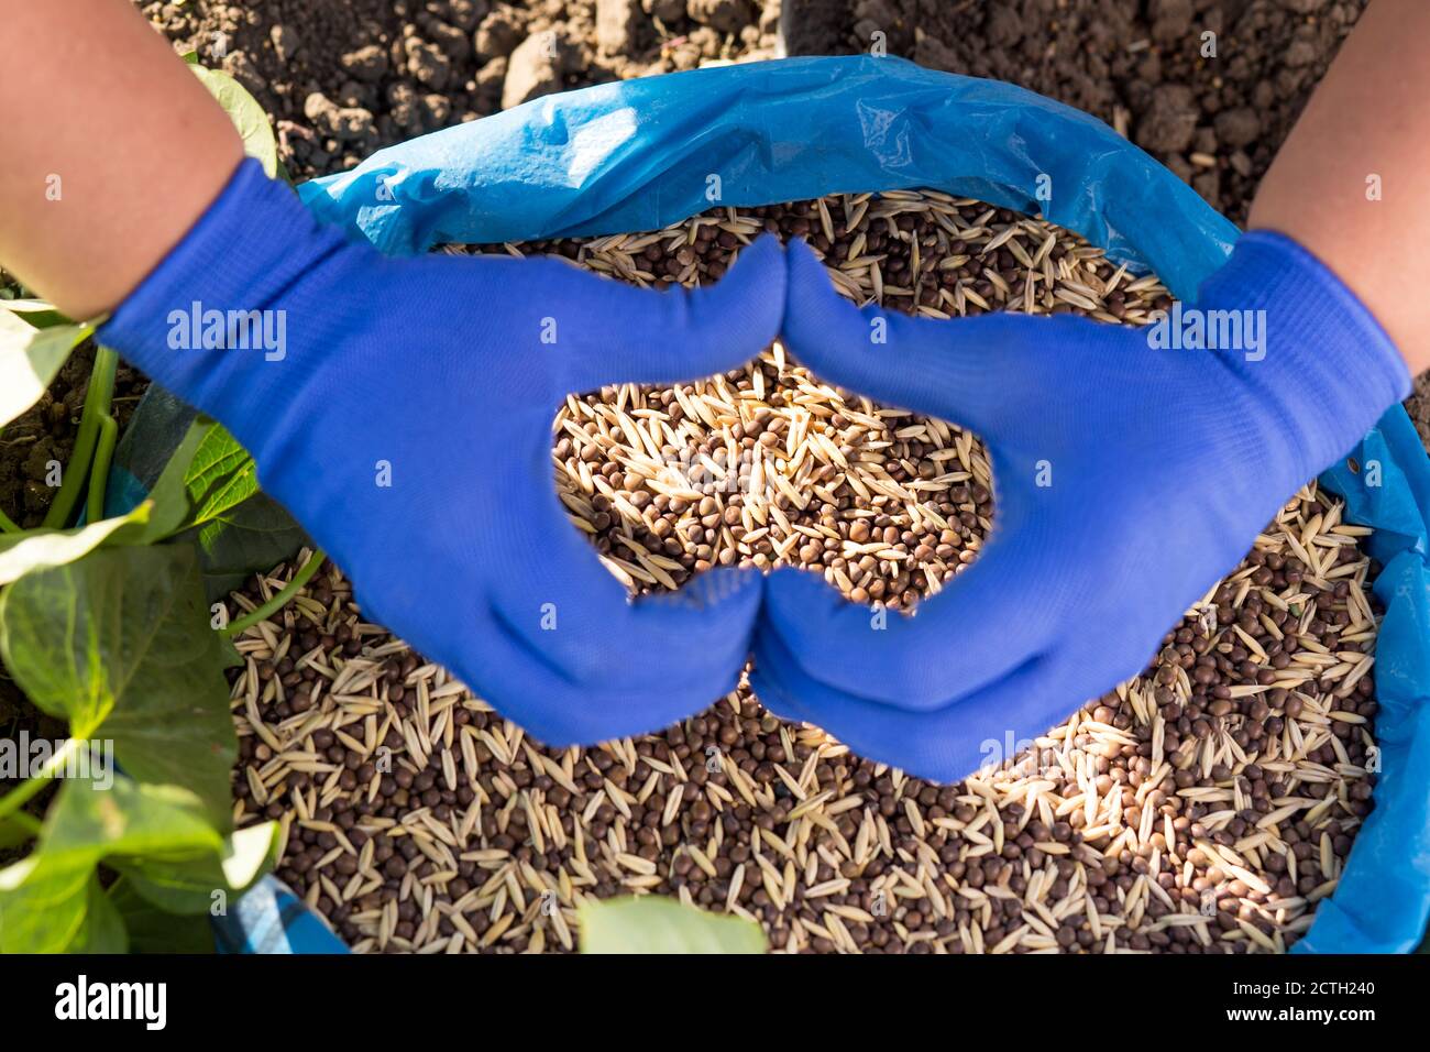
M113 909L92 916L94 867L107 860L220 856L225 840L203 803L177 786L119 777L110 789L66 781L44 820L40 843L0 870L0 953L83 952L113 946ZM103 897L103 893L100 892Z

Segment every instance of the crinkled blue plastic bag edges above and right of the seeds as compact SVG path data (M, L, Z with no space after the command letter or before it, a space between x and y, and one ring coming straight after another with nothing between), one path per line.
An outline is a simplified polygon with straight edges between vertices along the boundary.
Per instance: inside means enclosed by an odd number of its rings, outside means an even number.
M375 153L299 187L383 252L648 230L722 205L932 187L1042 212L1181 298L1237 228L1101 122L898 59L788 59L602 84ZM1051 190L1040 196L1040 187ZM957 322L951 322L957 325ZM1323 481L1376 527L1381 774L1340 886L1297 949L1403 952L1430 909L1430 461L1400 406ZM1367 485L1380 467L1380 487Z

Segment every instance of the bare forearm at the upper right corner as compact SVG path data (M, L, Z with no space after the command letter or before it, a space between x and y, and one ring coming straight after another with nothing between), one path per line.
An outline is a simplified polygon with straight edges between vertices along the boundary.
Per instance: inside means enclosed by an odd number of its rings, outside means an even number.
M1251 226L1314 252L1430 368L1430 3L1373 0L1267 172Z

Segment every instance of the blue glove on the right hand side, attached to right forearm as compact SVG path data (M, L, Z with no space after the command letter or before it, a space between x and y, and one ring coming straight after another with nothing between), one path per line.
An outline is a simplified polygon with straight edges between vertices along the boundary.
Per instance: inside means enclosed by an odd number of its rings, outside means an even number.
M1294 242L1248 233L1198 308L1263 311L1260 349L1153 349L1081 318L887 316L789 249L788 351L822 379L972 428L994 472L981 557L912 617L775 573L754 687L851 749L954 780L1145 667L1281 502L1410 389L1394 345ZM1051 482L1040 485L1041 481ZM997 743L997 744L994 744Z

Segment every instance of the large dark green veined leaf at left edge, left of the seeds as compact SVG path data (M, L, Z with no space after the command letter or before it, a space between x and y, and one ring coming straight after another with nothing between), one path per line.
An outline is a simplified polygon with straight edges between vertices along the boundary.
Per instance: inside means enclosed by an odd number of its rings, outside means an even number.
M0 594L0 658L76 737L113 739L142 781L183 786L226 829L237 739L189 545L106 548Z

